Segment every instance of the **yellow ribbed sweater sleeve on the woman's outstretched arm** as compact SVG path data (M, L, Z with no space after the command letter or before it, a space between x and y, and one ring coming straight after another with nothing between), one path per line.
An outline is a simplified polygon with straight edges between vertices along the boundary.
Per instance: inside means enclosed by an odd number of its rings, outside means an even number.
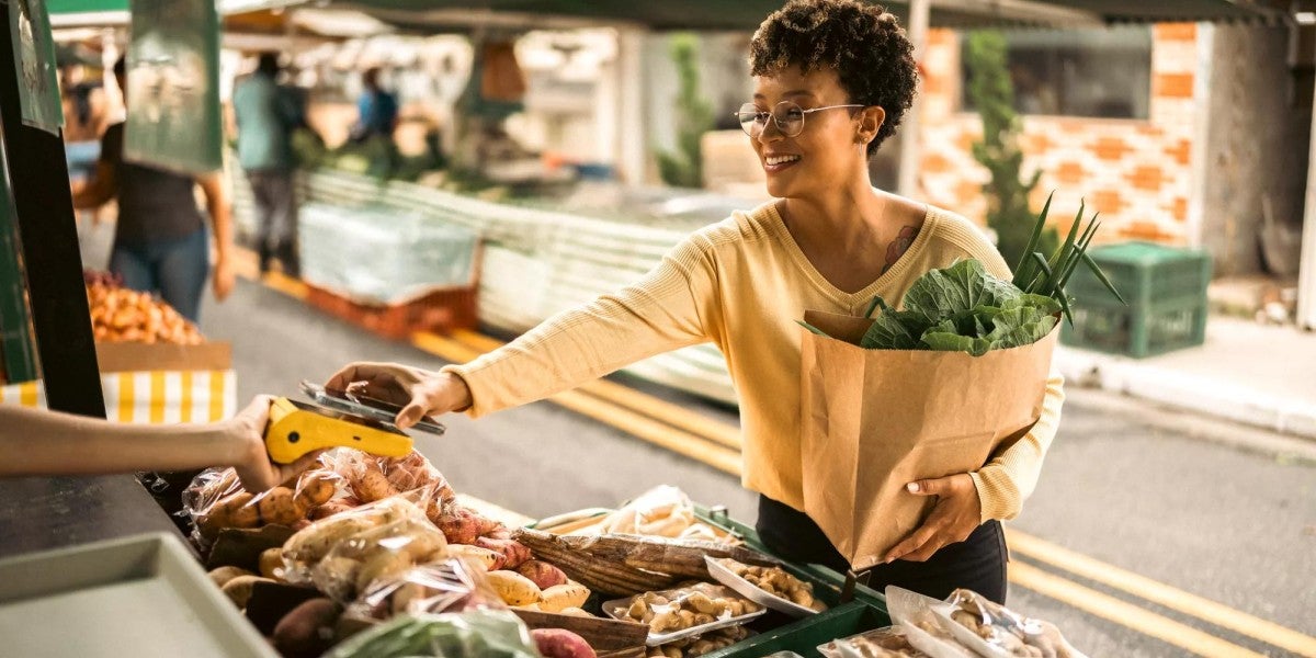
M716 268L707 238L672 249L640 282L558 313L508 345L442 371L471 390L483 416L574 388L654 354L709 340Z

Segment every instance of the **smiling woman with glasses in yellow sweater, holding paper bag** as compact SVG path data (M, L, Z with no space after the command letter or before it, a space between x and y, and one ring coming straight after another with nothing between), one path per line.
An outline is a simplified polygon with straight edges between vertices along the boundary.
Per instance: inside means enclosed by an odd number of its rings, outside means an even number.
M778 197L696 232L637 284L561 313L465 366L425 372L354 363L357 383L424 413L482 416L538 400L657 353L715 342L741 400L745 487L761 494L758 530L775 553L846 569L804 507L800 333L805 309L862 315L874 295L899 300L924 272L978 258L1009 268L967 220L869 184L867 161L895 133L917 82L896 20L855 0L792 0L754 34L754 100L741 125ZM1032 492L1059 417L1061 379L1030 434L975 472L911 483L936 496L926 522L871 583L944 597L969 587L1005 596L999 520Z

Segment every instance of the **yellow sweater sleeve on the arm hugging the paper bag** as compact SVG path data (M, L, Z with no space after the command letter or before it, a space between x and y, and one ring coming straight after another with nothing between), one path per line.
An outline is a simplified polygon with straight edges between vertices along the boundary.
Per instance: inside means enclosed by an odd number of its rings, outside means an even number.
M969 241L965 241L965 246L969 247ZM980 247L969 249L969 251L970 255L982 261L992 275L1007 280L1012 278L1005 259L986 241ZM974 487L978 488L983 522L1019 516L1024 500L1037 488L1042 461L1046 458L1046 450L1051 446L1055 430L1061 424L1061 407L1063 404L1065 376L1055 370L1053 363L1050 376L1046 379L1042 412L1033 429L976 472L970 474L974 479Z

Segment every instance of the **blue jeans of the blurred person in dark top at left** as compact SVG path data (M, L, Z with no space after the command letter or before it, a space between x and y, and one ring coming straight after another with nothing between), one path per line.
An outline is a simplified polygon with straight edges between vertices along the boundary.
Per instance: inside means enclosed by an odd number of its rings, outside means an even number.
M203 228L174 240L114 242L109 271L122 276L126 288L158 291L174 311L196 322L201 315L205 276L211 271L209 234Z

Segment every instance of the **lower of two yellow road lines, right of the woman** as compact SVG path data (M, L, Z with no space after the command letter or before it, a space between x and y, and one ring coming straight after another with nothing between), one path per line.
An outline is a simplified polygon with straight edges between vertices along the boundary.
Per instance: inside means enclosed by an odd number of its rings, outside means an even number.
M1263 658L1262 654L1220 640L1169 617L1145 611L1096 590L1048 574L1023 562L1009 565L1009 580L1034 592L1073 605L1090 615L1132 628L1138 633L1212 658Z

